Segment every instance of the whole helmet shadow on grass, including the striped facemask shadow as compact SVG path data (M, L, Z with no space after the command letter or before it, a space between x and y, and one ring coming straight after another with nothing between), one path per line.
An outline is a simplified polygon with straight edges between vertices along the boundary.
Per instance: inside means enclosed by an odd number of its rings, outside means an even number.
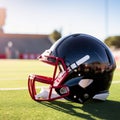
M87 102L83 105L62 100L52 102L40 102L40 104L64 112L66 114L70 114L72 116L85 118L87 120L96 120L95 117L105 120L120 119L120 102L112 100L106 100L105 102L92 101ZM81 112L81 110L83 112Z

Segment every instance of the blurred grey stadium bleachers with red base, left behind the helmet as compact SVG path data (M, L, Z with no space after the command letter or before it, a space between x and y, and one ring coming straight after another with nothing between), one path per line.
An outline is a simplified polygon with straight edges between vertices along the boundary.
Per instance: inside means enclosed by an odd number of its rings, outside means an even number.
M51 45L49 35L0 34L0 58L34 59Z

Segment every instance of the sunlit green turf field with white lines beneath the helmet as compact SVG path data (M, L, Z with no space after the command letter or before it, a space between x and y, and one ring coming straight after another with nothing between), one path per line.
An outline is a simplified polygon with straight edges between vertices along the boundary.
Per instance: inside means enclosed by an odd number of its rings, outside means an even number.
M115 71L107 101L82 105L33 101L26 89L27 78L30 73L47 73L48 68L39 66L38 60L0 60L0 120L120 120L120 69Z

